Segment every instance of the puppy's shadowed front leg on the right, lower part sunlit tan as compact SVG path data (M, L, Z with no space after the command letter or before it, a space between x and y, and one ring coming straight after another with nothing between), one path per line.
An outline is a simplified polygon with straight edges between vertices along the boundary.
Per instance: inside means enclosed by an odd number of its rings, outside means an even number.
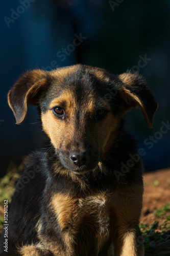
M138 227L142 207L142 185L122 187L113 196L114 247L116 256L144 256Z

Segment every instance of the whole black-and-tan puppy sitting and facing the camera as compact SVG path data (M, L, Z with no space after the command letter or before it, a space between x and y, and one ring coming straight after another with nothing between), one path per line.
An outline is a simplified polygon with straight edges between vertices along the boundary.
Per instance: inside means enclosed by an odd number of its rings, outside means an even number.
M16 185L1 255L143 256L143 166L124 130L137 106L152 127L158 104L143 77L84 65L33 70L8 102L17 124L37 106L48 139Z

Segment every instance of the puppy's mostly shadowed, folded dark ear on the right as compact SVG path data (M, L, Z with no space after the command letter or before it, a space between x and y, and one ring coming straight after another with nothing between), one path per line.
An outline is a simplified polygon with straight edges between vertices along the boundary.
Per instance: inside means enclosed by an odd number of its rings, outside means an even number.
M147 125L153 127L153 118L158 109L158 103L148 87L147 81L138 73L123 73L118 75L118 92L124 101L124 111L139 106Z

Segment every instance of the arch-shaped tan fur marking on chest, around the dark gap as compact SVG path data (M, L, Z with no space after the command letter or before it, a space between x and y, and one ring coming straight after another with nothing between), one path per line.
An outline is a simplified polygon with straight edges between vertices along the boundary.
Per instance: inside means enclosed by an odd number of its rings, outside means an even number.
M87 225L94 225L96 228L96 253L99 253L110 234L107 193L80 199L56 194L49 207L55 212L55 216L63 231L62 237L67 248L71 248L72 243L74 243L84 216L88 214L93 216L94 223L89 223L88 219L86 222Z

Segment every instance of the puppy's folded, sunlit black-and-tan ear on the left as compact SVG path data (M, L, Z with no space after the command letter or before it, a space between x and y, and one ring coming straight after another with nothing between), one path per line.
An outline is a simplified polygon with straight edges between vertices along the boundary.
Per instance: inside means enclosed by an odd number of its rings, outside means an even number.
M40 90L47 83L47 72L32 70L21 75L8 93L8 104L16 123L22 123L27 115L28 104L37 105Z

